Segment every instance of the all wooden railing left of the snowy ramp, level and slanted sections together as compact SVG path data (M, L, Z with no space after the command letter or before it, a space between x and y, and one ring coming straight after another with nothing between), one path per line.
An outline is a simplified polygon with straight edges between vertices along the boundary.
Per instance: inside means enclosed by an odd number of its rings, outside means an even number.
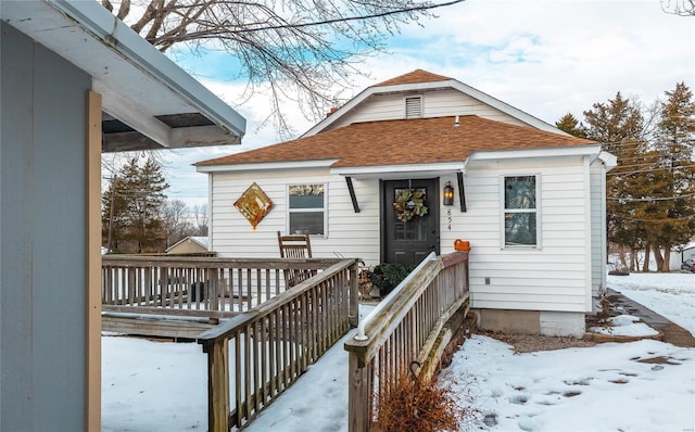
M357 263L108 255L102 310L114 322L168 315L201 329L219 319L195 336L208 356L208 430L243 428L356 325ZM286 291L287 269L314 276Z

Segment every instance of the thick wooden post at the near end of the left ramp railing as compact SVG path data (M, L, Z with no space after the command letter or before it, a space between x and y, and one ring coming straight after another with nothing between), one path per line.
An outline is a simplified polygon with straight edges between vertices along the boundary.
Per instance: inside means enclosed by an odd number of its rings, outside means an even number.
M229 351L226 339L204 345L207 353L207 430L229 431Z

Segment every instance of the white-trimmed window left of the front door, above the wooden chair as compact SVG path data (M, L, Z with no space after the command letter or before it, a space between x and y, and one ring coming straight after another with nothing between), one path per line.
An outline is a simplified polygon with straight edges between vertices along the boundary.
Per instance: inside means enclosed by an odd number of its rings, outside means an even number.
M290 185L288 188L288 232L326 233L326 186Z

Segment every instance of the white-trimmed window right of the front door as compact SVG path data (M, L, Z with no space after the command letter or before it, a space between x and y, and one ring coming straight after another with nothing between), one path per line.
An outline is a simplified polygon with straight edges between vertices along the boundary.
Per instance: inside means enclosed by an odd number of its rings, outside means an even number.
M539 245L539 176L504 177L504 245Z

